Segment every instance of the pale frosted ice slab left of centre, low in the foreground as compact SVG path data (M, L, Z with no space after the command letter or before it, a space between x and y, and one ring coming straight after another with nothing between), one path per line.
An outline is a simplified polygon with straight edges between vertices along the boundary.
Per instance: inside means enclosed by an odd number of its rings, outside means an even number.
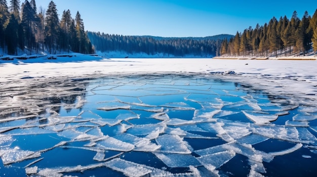
M114 151L131 151L134 149L134 145L125 143L115 138L105 136L104 140L98 141L97 147L100 149L114 150Z

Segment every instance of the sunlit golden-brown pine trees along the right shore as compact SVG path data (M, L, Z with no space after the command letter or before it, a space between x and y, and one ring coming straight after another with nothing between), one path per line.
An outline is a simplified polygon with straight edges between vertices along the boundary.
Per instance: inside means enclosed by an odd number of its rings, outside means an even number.
M273 17L268 24L236 32L221 44L221 55L278 56L305 55L317 51L317 9L312 17L306 11L301 19L294 11L292 18Z

